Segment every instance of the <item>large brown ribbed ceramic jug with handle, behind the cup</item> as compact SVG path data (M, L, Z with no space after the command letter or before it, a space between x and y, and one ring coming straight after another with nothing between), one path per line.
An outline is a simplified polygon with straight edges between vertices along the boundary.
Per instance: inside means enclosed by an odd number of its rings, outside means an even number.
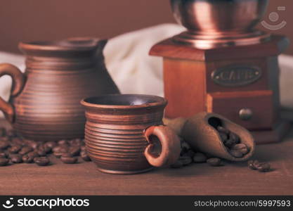
M21 42L25 73L10 64L0 65L0 77L13 79L9 102L0 98L0 110L13 128L36 141L83 137L85 117L79 101L119 93L105 68L106 43L90 38Z

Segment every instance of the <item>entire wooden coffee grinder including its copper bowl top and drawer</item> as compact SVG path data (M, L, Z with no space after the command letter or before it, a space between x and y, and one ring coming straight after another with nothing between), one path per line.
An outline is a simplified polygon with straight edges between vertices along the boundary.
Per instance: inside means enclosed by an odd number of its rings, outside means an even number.
M256 143L282 139L278 55L289 41L254 30L268 0L171 0L188 31L159 42L164 58L166 117L219 113L252 132Z

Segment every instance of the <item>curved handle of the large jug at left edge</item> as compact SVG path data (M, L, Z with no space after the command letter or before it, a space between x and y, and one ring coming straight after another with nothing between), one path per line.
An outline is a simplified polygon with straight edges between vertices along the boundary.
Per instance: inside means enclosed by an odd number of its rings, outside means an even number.
M20 72L20 70L14 65L8 63L0 64L0 77L2 77L3 75L10 75L12 78L11 96L14 97L20 94L22 88L25 85L25 75L23 75L22 72ZM4 101L4 99L1 97L0 110L4 112L4 115L8 122L14 122L15 111L13 105Z

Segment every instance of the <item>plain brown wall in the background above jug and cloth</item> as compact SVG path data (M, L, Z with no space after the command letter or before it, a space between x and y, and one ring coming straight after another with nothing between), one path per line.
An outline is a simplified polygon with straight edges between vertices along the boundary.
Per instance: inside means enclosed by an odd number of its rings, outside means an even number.
M270 23L268 14L277 11L277 6L286 6L286 11L278 13L280 21L287 21L277 33L293 40L292 0L271 0L265 20ZM0 0L0 51L18 52L18 41L114 37L172 22L169 0ZM287 53L293 54L293 45Z

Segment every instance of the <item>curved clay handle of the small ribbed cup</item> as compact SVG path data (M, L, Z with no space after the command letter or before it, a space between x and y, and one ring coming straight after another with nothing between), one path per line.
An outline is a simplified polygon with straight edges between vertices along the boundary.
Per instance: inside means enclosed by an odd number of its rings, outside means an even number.
M161 143L162 151L158 157L151 153L154 145L150 136L157 136ZM145 148L145 158L150 165L155 167L168 166L178 160L181 151L180 139L171 128L164 125L148 127L145 129L145 139L150 143Z

